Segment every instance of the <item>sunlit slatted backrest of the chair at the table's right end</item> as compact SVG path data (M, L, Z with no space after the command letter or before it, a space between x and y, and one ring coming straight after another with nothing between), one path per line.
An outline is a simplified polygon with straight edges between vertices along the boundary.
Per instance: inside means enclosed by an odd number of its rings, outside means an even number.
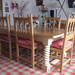
M74 30L75 30L75 18L70 18L70 15L68 15L64 33L63 49L65 49L66 41L70 40L74 42Z

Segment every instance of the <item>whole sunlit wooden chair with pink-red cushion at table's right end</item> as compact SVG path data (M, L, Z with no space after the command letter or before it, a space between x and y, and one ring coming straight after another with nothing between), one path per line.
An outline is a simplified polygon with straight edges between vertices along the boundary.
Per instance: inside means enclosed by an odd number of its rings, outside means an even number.
M71 64L72 60L72 50L73 50L73 43L74 43L74 24L75 18L69 18L68 15L65 32L64 32L64 39L56 40L51 45L51 51L58 52L58 54L51 55L51 58L60 60L60 65L57 66L56 64L52 64L56 67L60 68L60 72L63 71L63 66L66 65L68 62ZM69 56L65 57L65 53L69 53ZM57 56L58 55L58 56Z

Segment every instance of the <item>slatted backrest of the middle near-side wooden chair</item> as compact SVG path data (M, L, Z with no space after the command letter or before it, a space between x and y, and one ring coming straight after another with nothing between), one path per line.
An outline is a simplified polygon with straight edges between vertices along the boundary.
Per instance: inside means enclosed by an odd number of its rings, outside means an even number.
M15 17L14 18L14 27L15 27L15 37L16 41L19 38L29 39L32 41L32 46L34 46L34 31L33 31L33 19L32 14L30 17ZM28 28L27 25L30 25Z

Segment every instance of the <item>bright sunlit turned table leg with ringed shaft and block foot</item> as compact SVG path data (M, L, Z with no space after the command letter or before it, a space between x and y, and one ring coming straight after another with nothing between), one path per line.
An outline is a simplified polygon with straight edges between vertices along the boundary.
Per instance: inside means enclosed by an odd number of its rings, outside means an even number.
M53 39L48 39L48 44L44 44L44 61L42 64L42 69L46 72L50 71L51 65L49 63L50 61L50 46L52 44Z

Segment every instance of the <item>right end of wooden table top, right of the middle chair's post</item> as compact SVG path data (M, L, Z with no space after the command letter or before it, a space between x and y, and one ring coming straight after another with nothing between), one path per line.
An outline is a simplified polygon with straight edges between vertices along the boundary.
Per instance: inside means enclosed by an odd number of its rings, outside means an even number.
M35 29L34 34L35 36L41 36L41 37L54 37L57 35L61 35L64 33L64 29L58 30L57 28L51 29L51 28L46 28L44 29L43 27L40 27L39 30Z

